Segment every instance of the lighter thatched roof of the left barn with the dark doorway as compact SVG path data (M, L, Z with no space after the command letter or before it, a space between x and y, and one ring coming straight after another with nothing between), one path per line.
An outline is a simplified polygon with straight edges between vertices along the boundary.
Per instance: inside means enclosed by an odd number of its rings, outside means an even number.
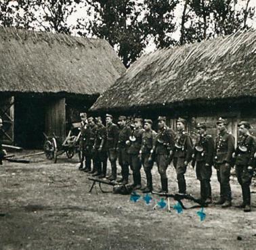
M0 28L0 92L97 95L125 71L102 39Z

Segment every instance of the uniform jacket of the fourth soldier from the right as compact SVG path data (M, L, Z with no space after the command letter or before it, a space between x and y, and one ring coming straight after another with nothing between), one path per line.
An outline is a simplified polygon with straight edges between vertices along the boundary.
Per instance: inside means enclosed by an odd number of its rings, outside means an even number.
M184 158L185 161L190 162L192 153L193 145L190 134L185 131L177 132L173 157Z

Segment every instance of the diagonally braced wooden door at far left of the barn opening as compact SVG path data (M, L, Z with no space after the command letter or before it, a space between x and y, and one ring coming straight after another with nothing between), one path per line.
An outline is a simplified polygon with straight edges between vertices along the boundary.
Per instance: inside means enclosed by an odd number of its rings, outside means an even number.
M14 144L14 97L0 95L0 116L3 119L3 143Z

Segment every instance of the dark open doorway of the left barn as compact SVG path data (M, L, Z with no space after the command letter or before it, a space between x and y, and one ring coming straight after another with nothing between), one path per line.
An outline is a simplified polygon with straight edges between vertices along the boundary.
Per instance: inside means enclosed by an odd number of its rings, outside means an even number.
M45 103L39 97L15 97L14 140L24 149L42 149Z

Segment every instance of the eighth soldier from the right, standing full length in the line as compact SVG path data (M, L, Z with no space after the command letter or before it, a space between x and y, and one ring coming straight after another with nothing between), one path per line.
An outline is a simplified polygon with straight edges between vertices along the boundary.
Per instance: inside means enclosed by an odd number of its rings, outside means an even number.
M127 153L127 144L129 141L129 136L131 136L131 128L126 124L126 117L119 116L119 143L118 143L118 153L119 153L119 165L122 170L122 178L118 180L122 184L127 184L129 181L129 155Z

